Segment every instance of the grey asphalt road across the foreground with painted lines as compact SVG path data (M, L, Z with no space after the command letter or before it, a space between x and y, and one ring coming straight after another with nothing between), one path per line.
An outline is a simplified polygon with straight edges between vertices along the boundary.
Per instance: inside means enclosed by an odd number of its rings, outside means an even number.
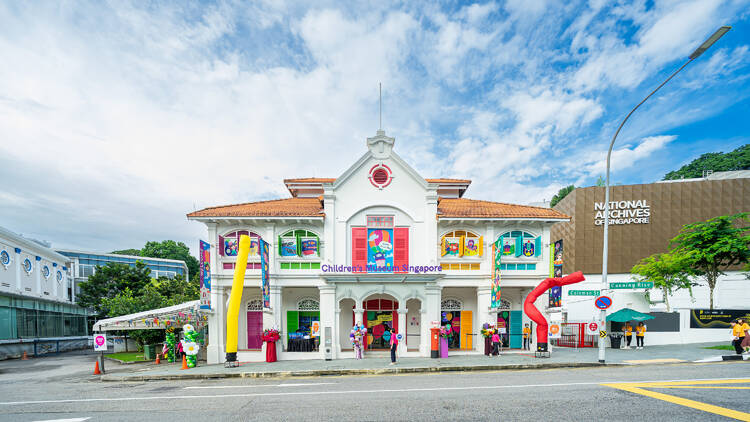
M0 421L750 420L747 362L138 383L90 372L90 356L0 365Z

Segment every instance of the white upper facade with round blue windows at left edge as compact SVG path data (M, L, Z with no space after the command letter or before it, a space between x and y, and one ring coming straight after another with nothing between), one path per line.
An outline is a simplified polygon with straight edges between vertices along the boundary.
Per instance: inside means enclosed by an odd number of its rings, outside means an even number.
M0 293L72 303L68 259L0 227Z

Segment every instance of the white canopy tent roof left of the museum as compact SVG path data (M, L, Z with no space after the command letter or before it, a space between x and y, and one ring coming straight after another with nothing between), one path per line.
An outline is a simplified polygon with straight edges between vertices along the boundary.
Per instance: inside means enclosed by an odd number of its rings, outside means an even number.
M208 316L200 309L200 300L152 309L114 318L97 321L94 331L116 330L163 330L168 327L180 328L191 324L196 330L208 322Z

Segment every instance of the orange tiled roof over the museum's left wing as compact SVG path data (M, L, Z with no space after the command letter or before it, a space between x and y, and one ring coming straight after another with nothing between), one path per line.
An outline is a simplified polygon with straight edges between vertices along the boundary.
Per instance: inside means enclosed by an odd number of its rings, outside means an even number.
M191 212L188 217L323 217L321 198L286 198L222 205Z

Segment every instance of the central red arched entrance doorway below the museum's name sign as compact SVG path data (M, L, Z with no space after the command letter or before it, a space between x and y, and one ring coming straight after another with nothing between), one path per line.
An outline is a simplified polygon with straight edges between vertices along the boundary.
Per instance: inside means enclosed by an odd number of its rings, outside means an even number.
M389 295L373 295L362 302L367 327L367 349L390 349L391 329L398 331L398 302Z

